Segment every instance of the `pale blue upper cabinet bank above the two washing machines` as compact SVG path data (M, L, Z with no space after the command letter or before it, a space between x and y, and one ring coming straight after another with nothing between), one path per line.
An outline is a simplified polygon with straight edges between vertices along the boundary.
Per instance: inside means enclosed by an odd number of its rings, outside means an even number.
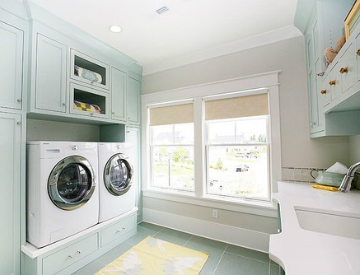
M141 67L109 52L33 21L29 117L138 125Z

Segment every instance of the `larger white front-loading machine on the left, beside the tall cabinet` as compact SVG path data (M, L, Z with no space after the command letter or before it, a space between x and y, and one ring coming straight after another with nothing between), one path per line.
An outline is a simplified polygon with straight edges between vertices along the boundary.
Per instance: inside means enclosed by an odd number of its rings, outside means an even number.
M27 241L41 248L98 223L98 145L27 144Z

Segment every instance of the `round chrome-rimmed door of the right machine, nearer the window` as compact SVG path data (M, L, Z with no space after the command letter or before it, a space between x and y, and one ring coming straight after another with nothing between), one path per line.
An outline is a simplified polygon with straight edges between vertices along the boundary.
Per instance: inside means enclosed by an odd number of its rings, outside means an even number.
M131 187L134 169L125 154L112 156L105 165L104 183L114 196L125 194Z

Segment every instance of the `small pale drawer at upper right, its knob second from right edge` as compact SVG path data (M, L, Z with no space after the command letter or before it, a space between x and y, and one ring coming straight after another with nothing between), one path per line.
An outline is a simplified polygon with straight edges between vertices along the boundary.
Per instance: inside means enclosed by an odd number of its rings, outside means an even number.
M340 59L340 68L337 73L341 76L342 92L345 93L357 81L356 72L356 47L355 43L350 43Z

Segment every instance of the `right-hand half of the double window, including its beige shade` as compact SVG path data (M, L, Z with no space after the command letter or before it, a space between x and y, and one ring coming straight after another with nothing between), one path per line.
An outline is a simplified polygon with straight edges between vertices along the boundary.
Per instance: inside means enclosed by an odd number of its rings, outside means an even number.
M207 194L270 199L267 94L205 102Z

